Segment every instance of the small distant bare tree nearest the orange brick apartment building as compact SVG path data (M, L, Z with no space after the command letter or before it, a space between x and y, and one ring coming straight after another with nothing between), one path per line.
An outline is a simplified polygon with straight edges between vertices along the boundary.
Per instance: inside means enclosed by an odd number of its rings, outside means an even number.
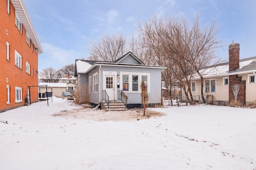
M56 69L53 67L46 67L45 69L42 69L39 71L40 79L48 83L55 83L55 81L58 79L58 74Z

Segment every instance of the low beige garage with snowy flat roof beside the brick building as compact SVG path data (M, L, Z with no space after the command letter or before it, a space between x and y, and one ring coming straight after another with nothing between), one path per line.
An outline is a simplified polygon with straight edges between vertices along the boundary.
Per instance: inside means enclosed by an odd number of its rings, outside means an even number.
M47 85L47 86L46 86ZM52 96L61 97L62 93L66 91L66 83L39 83L38 89L41 97L46 96L47 92L52 92Z

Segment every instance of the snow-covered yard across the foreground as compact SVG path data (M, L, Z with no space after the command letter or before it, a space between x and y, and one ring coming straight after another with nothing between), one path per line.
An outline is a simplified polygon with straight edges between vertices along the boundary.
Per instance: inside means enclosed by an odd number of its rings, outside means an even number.
M51 116L72 109L86 117L56 97L0 113L0 170L256 170L256 109L155 108L166 115L139 121Z

